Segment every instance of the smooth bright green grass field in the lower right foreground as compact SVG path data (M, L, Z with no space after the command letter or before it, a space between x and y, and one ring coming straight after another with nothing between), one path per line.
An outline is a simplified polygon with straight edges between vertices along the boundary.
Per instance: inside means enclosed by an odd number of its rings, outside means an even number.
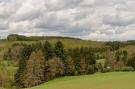
M135 89L135 72L64 77L27 89Z

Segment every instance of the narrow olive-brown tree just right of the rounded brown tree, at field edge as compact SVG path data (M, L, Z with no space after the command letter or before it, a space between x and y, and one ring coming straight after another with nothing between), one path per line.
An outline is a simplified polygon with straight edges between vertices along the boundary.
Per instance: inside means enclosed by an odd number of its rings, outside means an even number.
M68 57L65 60L65 75L74 75L75 74L75 64L71 57Z

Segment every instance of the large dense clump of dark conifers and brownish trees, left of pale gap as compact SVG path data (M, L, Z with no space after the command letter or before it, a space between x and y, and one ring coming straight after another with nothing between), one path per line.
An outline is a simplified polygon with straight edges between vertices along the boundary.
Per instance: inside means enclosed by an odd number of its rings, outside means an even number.
M17 43L4 57L7 60L19 59L15 85L26 88L57 77L95 73L98 71L96 50L86 47L65 49L61 41L56 42L54 46L48 41L33 44Z

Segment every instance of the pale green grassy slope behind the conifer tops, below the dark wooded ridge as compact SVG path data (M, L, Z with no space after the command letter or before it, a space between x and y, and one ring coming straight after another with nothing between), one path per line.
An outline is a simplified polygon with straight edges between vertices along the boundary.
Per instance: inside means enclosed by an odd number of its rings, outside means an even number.
M87 41L87 40L77 40L77 39L60 39L60 38L53 38L48 39L48 41L52 44L55 44L57 41L62 41L65 48L77 48L77 47L104 47L104 42L96 42L96 41ZM34 43L37 41L3 41L0 42L1 47L10 47L13 43ZM39 42L45 42L45 40L41 40Z

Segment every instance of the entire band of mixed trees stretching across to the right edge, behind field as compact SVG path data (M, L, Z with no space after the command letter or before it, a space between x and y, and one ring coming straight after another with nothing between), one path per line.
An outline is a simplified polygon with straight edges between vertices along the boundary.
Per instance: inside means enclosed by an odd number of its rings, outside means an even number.
M15 85L21 88L36 86L62 76L135 70L135 57L129 57L126 50L113 46L112 49L65 49L61 41L54 45L48 41L33 44L17 43L7 51L4 59L19 59ZM105 63L97 63L99 59L105 59Z

